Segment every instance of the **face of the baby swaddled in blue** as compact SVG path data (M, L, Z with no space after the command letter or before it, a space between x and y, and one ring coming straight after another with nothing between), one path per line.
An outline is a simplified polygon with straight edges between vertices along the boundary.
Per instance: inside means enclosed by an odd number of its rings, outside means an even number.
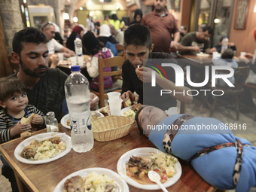
M164 120L168 115L160 108L146 106L142 109L138 116L138 123L143 127L144 133L150 133L150 127L157 125Z

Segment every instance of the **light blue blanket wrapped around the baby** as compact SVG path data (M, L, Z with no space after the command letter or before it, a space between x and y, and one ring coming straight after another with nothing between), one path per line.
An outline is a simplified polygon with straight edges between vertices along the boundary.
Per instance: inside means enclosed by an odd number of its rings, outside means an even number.
M157 125L158 129L151 130L148 139L161 151L164 151L163 136L166 129L160 129L171 125L181 115L175 114L166 117ZM203 127L204 130L202 130ZM236 142L236 138L221 121L207 117L194 117L187 120L178 130L172 141L172 153L182 160L190 161L197 151L215 145ZM238 139L242 144L251 145L246 139ZM209 184L222 190L228 190L234 188L232 177L236 155L235 147L221 148L191 160L191 164ZM256 185L256 148L243 147L242 169L239 182L236 185L236 192L248 191L254 185Z

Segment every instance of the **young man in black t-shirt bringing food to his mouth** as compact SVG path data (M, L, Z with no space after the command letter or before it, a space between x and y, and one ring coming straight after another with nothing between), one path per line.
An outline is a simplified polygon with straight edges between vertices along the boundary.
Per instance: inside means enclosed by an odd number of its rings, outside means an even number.
M176 99L185 103L192 102L192 96L175 94L175 92L186 93L190 89L185 86L175 86L175 72L171 67L163 67L168 79L162 79L157 73L156 86L151 87L151 65L154 66L154 64L145 62L145 60L158 59L168 63L177 61L168 53L152 52L154 44L151 43L151 32L147 26L142 24L129 26L124 32L124 48L128 59L123 62L122 66L121 99L130 98L131 101L136 100L144 105L151 104L170 111L172 111L172 107L177 106ZM172 93L160 96L160 90L172 90ZM139 95L139 98L135 97L134 92Z

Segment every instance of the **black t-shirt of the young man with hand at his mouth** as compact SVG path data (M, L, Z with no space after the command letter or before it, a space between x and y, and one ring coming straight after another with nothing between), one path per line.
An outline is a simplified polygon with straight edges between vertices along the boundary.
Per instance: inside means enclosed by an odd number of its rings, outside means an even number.
M169 59L169 63L177 63L175 59L168 53L153 52L149 54L149 59ZM166 72L167 78L175 82L175 72L171 67L163 67ZM122 93L130 90L132 93L136 91L139 95L139 103L143 105L154 105L163 110L167 110L170 107L177 105L176 99L170 94L163 94L160 96L160 86L156 84L156 87L151 87L151 83L144 83L139 80L136 75L135 68L129 59L123 62L122 67L123 86ZM145 93L145 94L143 94Z

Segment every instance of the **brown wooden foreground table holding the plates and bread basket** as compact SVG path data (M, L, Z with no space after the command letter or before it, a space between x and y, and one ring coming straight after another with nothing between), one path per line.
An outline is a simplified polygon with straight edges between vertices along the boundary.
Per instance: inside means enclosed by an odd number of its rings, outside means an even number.
M70 136L70 130L60 123L59 132ZM46 133L46 129L36 131L32 133L32 136L40 133ZM49 163L26 164L18 161L14 157L14 150L22 141L21 139L14 139L0 145L2 156L14 170L20 192L53 191L59 181L81 169L102 167L117 172L117 161L127 151L143 147L155 148L148 138L139 132L136 123L133 123L130 134L123 138L111 142L94 141L93 149L86 153L77 153L71 150L65 156ZM172 186L167 187L168 191L203 192L215 189L197 174L190 163L183 160L179 160L179 162L182 169L181 178ZM130 184L128 186L131 192L147 191L133 187Z

